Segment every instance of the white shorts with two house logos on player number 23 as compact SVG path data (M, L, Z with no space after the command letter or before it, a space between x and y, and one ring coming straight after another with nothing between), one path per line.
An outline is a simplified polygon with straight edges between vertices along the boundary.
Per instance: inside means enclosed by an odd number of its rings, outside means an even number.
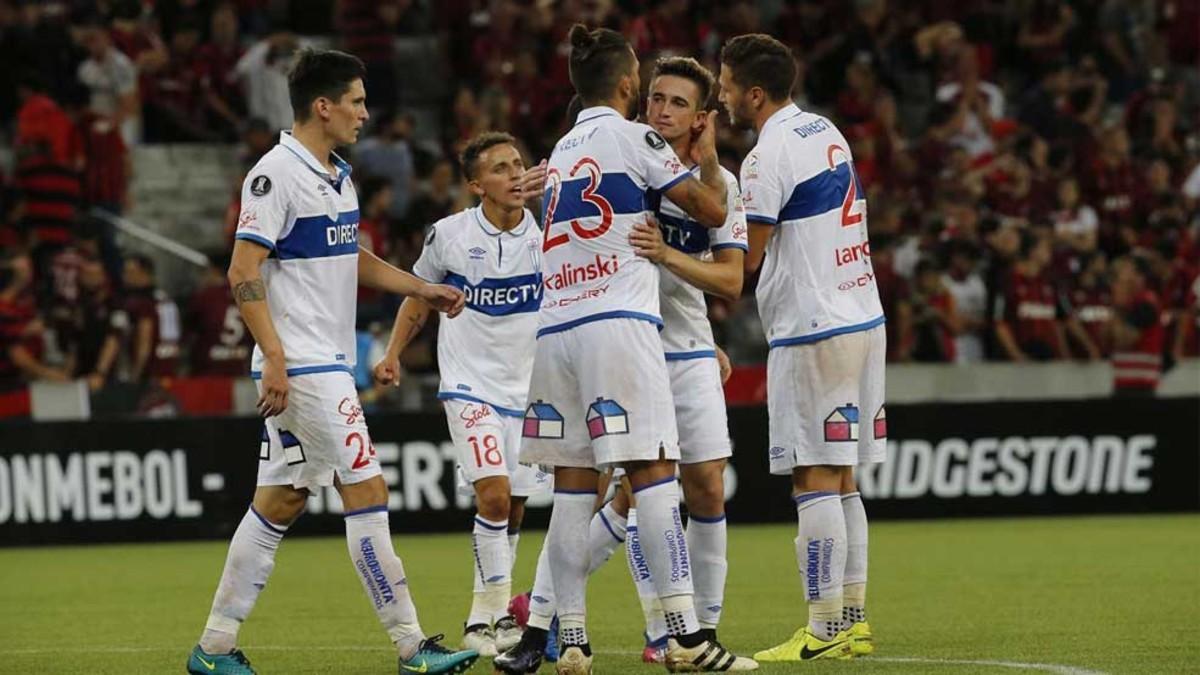
M593 321L538 339L522 464L604 470L679 459L662 341L647 321Z

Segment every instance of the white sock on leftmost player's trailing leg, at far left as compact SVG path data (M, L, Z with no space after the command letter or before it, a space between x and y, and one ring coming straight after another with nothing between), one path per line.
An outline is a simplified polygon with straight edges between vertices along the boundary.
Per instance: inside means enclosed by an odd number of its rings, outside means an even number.
M266 586L275 568L275 551L287 531L284 525L269 522L253 506L241 516L200 637L200 649L206 653L229 653L238 646L238 629Z

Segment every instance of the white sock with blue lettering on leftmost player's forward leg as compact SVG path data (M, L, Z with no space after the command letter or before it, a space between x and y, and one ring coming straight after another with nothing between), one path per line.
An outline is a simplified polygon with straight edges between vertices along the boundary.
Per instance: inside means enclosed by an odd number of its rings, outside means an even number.
M404 566L391 545L388 507L370 507L346 514L346 543L362 590L374 607L402 658L416 652L425 634L408 593Z

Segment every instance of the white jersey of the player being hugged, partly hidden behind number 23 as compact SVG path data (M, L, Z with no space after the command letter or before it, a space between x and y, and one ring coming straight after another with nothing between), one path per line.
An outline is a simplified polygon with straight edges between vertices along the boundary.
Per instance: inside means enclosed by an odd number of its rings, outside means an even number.
M692 167L691 172L698 177L700 167ZM654 215L668 246L696 258L710 256L713 251L721 249L749 250L738 179L725 168L721 168L721 175L725 178L727 215L725 225L716 229L700 225L671 199L661 199ZM654 201L652 198L652 203ZM664 323L662 348L667 360L716 357L716 342L713 340L713 327L708 323L708 305L704 303L703 291L679 279L673 271L660 268L659 301Z

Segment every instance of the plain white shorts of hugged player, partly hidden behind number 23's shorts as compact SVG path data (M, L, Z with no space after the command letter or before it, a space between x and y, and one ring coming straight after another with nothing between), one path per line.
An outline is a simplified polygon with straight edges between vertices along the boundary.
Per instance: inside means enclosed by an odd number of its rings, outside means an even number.
M725 389L715 358L668 360L679 464L700 464L733 454L725 414Z

